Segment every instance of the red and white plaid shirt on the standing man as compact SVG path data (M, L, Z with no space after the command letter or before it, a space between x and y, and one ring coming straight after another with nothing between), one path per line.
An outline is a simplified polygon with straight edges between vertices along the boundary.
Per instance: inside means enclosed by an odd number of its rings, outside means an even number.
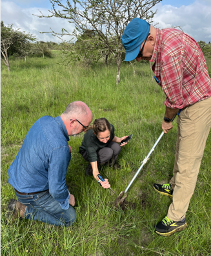
M175 28L157 28L151 62L159 85L166 94L165 105L183 109L211 96L211 80L201 48Z

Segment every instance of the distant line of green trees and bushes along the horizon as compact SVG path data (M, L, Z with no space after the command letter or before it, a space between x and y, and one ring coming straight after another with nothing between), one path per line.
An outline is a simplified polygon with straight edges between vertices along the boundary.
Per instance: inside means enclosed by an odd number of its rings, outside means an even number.
M113 42L115 38L112 37L109 40ZM211 59L211 43L205 43L205 41L199 41L198 43L204 56ZM70 62L80 62L87 67L98 61L104 61L106 65L108 62L116 62L120 69L120 64L125 59L125 49L119 53L120 61L118 62L114 50L111 50L111 45L108 44L106 47L99 35L93 30L85 30L75 42L55 43L53 41L37 41L34 35L21 32L19 28L14 28L14 25L5 26L1 21L1 59L9 71L10 56L24 58L25 61L26 56L50 58L52 57L52 50L61 51L65 56L63 59L66 65Z

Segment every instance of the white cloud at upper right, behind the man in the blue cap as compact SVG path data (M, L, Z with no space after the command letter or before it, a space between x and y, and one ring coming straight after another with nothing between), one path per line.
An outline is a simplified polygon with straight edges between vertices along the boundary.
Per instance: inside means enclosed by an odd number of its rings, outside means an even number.
M157 14L154 23L158 28L180 26L196 41L210 41L211 38L211 1L197 0L188 6L179 8L171 5L156 5Z

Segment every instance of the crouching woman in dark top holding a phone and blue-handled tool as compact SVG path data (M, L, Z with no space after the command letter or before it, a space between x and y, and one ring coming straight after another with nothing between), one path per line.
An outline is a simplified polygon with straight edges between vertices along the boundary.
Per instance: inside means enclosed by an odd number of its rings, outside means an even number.
M93 125L86 129L83 142L79 147L79 153L86 161L90 162L86 167L86 175L93 175L98 182L97 175L99 171L97 165L105 164L108 161L114 165L121 147L126 145L126 142L121 145L118 143L126 137L128 136L122 138L115 136L114 126L106 118L95 119ZM105 182L100 181L100 184L104 188L110 187L107 179L105 179Z

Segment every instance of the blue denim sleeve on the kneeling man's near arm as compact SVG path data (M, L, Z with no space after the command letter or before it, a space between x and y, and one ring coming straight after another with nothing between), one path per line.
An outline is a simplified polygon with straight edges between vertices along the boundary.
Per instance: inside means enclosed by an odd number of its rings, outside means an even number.
M48 184L49 193L57 200L62 209L69 208L70 192L66 187L66 171L71 155L68 146L54 149L49 156Z

